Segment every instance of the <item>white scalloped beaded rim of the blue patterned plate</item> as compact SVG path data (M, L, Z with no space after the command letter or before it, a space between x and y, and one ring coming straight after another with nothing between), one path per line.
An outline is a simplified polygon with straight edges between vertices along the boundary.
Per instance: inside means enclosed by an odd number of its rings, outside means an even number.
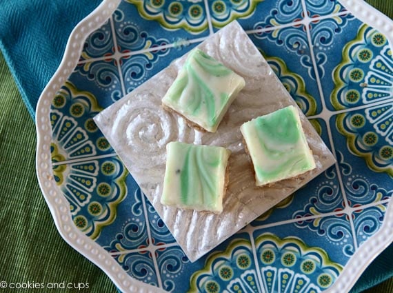
M109 19L121 0L103 0L88 17L72 30L59 68L41 93L36 110L37 177L43 197L48 204L54 224L61 237L77 252L85 256L108 275L114 285L122 292L154 293L165 292L159 287L145 284L129 276L114 258L99 244L85 236L73 223L66 197L54 181L50 143L50 104L54 94L70 77L79 61L83 43L91 32L100 28ZM303 0L304 1L304 0ZM393 21L363 0L339 0L356 18L376 28L387 37L393 50ZM326 293L348 292L356 283L365 268L390 243L393 242L393 207L390 201L381 228L361 245L347 262L339 278L325 290Z

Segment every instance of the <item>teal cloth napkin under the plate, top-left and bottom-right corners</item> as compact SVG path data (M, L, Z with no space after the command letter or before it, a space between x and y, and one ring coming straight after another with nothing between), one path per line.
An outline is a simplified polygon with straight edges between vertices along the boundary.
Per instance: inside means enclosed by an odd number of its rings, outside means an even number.
M101 0L0 0L0 49L34 118L39 96L57 70L70 32ZM352 292L393 276L393 246L363 273Z

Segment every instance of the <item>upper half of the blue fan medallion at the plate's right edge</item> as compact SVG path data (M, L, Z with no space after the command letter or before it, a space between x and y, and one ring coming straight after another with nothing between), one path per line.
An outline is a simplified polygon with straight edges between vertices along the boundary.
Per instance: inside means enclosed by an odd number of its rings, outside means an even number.
M386 37L367 25L343 48L343 61L334 70L335 110L392 98L393 61Z

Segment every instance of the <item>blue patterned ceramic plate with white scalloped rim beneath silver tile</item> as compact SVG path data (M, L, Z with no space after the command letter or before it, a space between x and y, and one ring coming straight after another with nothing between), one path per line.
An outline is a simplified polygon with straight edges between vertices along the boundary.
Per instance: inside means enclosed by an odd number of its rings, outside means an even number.
M337 163L191 263L92 117L234 19ZM363 1L103 1L37 106L61 236L122 292L347 292L393 241L392 40Z

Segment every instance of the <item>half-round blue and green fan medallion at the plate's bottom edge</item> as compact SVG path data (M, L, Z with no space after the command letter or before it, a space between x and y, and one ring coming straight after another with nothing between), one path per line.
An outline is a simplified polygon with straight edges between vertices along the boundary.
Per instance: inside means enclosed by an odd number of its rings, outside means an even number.
M192 276L191 292L320 292L342 270L299 239L264 233L255 246L253 252L249 241L235 240L225 252L210 256Z

